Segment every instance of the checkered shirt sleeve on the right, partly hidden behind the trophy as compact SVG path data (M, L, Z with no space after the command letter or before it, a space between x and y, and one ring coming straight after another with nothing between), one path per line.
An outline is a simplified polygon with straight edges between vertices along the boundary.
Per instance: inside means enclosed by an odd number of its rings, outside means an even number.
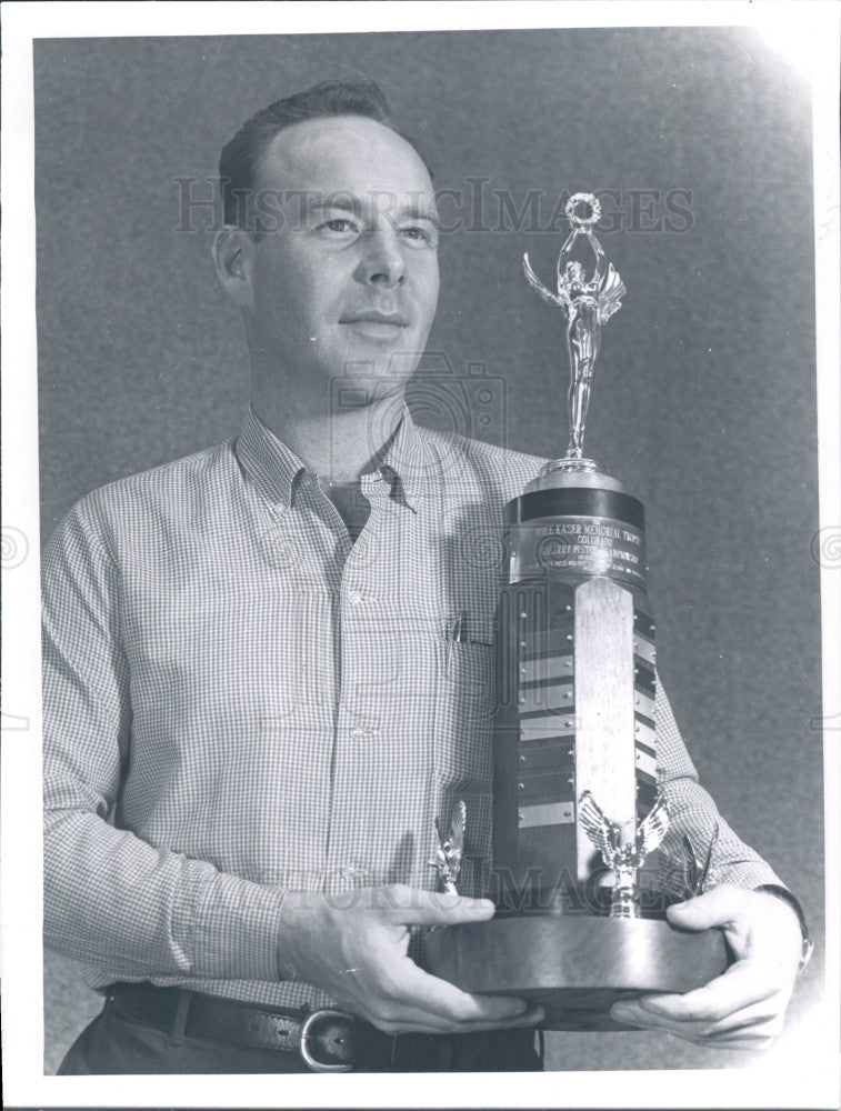
M784 887L759 853L737 837L719 813L712 797L698 782L698 772L660 682L654 712L658 781L669 808L669 832L659 852L659 890L679 898L685 894L684 834L689 834L701 864L714 839L710 885L732 883L751 890L764 884Z

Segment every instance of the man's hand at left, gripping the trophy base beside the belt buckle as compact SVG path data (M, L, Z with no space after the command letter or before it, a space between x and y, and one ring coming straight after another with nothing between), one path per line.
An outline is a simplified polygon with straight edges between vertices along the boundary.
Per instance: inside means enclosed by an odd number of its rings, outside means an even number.
M403 884L362 888L344 897L287 895L278 945L282 979L328 991L352 1014L386 1033L470 1033L527 1027L541 1008L520 999L470 995L420 969L408 955L409 925L453 925L493 917L488 899L438 894ZM338 904L338 905L337 905Z

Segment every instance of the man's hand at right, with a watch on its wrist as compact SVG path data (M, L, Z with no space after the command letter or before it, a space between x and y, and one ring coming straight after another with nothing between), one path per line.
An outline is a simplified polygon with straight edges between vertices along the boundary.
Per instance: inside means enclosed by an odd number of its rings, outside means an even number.
M613 1018L703 1045L767 1048L782 1030L802 952L792 908L767 892L722 884L675 903L667 914L685 930L720 927L735 963L685 995L643 995L615 1003Z

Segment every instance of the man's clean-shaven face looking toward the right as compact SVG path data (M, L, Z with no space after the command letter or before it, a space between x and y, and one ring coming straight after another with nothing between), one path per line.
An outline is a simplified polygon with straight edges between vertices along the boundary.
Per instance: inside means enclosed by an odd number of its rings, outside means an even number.
M251 259L262 376L277 368L321 391L350 370L378 396L402 389L438 301L434 198L418 153L373 120L307 120L277 136L258 188L282 216Z

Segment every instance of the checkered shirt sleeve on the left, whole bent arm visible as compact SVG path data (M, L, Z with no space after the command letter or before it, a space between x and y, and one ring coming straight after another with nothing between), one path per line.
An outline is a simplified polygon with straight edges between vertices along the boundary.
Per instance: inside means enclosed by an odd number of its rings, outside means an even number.
M112 824L131 761L119 569L90 502L43 560L44 940L119 977L278 980L283 891Z

